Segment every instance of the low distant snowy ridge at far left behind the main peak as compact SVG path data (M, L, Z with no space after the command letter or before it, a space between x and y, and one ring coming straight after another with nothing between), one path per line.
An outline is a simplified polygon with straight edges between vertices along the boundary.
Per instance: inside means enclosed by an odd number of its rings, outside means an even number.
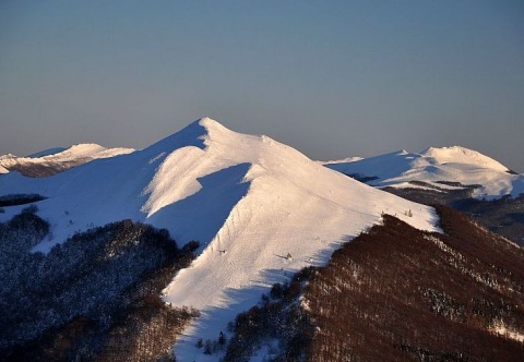
M69 148L50 148L27 157L0 156L0 173L10 170L31 177L46 177L97 158L109 158L130 154L133 148L106 148L97 144L78 144Z

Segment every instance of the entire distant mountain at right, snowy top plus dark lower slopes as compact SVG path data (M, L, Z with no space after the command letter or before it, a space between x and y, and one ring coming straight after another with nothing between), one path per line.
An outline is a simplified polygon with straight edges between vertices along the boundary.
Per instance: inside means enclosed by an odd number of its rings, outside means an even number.
M452 206L524 245L524 174L476 150L430 147L325 166L417 203Z

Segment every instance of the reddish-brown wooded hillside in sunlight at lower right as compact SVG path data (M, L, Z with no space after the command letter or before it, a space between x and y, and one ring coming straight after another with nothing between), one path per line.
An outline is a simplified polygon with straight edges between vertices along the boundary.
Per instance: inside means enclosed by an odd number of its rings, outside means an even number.
M522 249L452 209L439 215L444 234L388 216L311 273L308 361L522 359Z

